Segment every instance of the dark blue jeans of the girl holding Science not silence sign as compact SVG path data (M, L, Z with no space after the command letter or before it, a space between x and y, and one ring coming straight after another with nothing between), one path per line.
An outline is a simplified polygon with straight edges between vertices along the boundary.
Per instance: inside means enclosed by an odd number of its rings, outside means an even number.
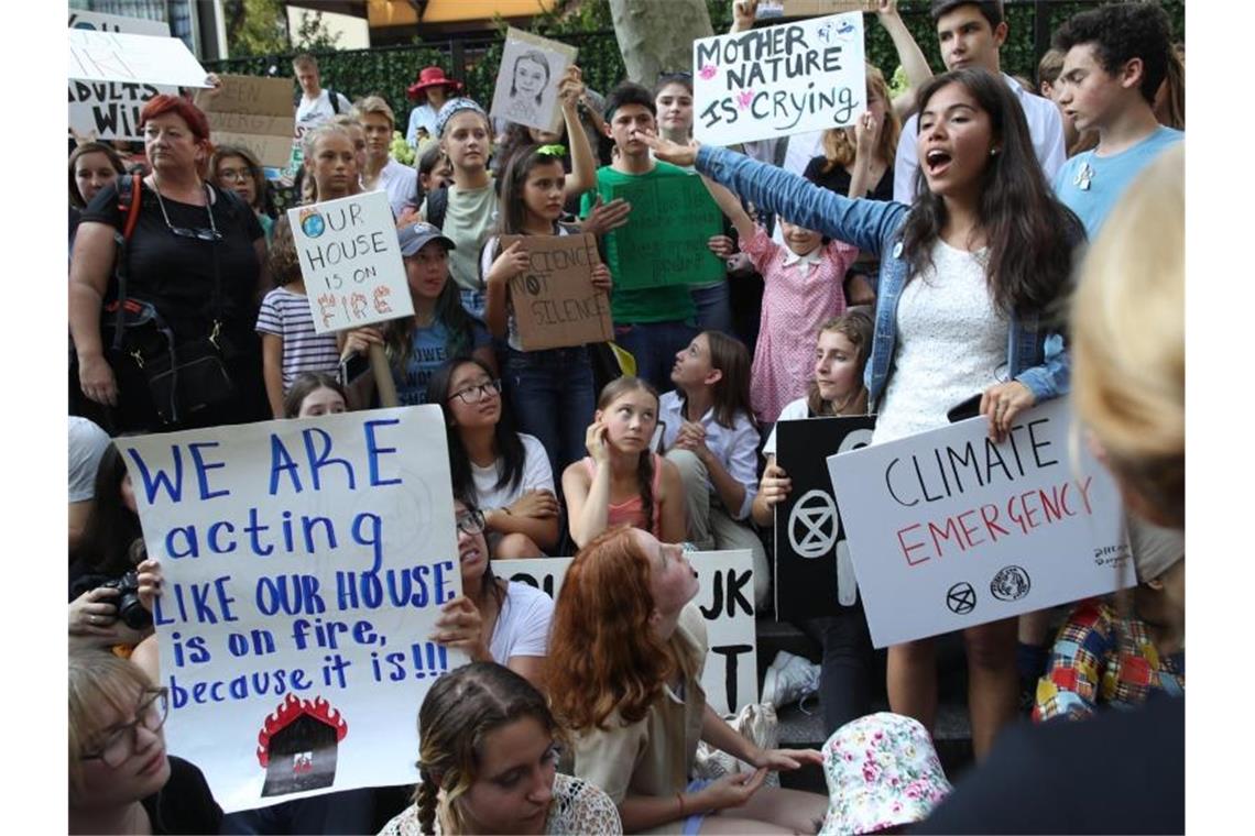
M596 401L589 350L506 347L499 356L517 429L545 445L557 493L562 469L586 455L584 441Z

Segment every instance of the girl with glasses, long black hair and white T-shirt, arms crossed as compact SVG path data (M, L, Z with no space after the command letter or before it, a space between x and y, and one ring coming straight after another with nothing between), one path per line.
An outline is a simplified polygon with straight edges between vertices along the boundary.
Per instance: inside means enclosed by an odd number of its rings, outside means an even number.
M557 545L558 504L548 454L533 435L515 432L501 381L474 358L435 370L427 397L448 427L453 493L483 509L494 558L540 558Z

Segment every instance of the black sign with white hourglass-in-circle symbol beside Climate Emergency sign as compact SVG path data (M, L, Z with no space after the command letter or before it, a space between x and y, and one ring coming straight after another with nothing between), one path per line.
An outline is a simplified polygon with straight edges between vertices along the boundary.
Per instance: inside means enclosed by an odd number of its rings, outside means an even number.
M776 424L776 461L793 483L776 506L776 612L781 618L832 615L853 607L857 584L828 456L871 442L868 415Z

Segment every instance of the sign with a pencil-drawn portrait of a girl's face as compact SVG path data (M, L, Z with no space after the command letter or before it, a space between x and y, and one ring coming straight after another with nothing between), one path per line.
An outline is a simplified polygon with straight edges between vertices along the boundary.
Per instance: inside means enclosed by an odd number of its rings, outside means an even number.
M501 69L488 115L528 128L560 133L562 108L557 85L579 50L521 29L506 30Z

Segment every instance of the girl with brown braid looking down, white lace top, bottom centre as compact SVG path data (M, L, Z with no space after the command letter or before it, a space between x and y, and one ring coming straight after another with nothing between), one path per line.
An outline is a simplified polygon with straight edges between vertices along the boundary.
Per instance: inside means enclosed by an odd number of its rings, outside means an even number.
M557 772L557 723L543 694L492 662L437 679L418 709L420 783L380 836L621 833L594 785Z

